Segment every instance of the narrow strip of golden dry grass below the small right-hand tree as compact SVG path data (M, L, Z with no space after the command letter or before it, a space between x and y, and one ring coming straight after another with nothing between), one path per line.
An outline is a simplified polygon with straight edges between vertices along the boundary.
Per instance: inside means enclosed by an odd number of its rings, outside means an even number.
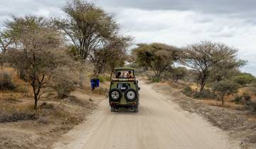
M213 100L198 100L198 102L203 102L204 104L210 105L210 106L220 106L225 107L228 109L235 109L235 110L244 110L245 106L242 104L235 104L233 102L226 101L224 103L224 106L222 105L221 101L213 101Z

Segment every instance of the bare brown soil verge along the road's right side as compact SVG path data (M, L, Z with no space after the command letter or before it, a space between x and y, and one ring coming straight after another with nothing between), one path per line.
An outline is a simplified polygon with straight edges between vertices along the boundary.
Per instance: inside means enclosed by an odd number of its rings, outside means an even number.
M151 85L154 86L156 92L164 94L166 99L178 104L181 109L199 114L213 126L227 132L228 136L235 140L235 143L240 144L240 148L256 148L256 116L252 111L211 106L208 103L209 100L192 99L181 93L181 89L184 87L182 83L154 83Z

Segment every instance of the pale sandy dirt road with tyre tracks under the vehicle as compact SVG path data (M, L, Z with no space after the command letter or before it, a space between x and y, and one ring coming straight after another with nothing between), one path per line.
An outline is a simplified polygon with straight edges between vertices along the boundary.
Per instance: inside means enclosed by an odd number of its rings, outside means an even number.
M152 89L150 84L140 84L141 105L139 113L126 109L111 113L107 99L85 123L67 133L55 149L198 149L239 148L230 143L226 133L210 125L196 114L181 110L166 96ZM169 96L170 98L170 96Z

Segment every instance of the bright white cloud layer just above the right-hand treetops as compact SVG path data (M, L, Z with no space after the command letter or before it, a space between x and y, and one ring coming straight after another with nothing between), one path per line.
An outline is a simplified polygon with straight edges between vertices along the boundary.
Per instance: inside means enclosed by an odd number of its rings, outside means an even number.
M134 43L160 42L180 47L201 40L225 43L248 60L244 72L256 75L256 27L242 18L195 11L119 9L116 20L124 33L134 35Z

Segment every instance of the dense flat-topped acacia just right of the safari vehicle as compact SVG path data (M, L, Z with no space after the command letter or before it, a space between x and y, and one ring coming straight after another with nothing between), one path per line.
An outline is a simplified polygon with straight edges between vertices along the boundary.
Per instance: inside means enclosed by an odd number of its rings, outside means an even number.
M137 63L142 67L151 68L155 77L161 78L163 72L180 57L178 48L162 43L138 44L133 50Z

